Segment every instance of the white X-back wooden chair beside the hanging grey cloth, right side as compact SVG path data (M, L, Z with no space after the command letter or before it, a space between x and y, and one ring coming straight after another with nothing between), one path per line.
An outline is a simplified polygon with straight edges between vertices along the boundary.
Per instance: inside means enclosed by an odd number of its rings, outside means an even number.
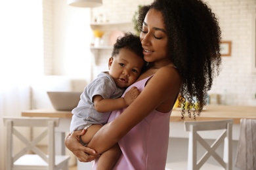
M188 121L184 122L185 131L189 132L188 137L188 161L187 162L173 162L167 163L165 169L232 169L232 124L233 120L214 120L214 121ZM218 130L221 134L216 141L209 146L209 144L201 137L198 131L212 131ZM216 133L217 133L216 132ZM198 146L200 143L206 152L202 158L198 159ZM220 144L224 143L224 154L219 156L216 149ZM206 161L212 156L220 166L207 163Z

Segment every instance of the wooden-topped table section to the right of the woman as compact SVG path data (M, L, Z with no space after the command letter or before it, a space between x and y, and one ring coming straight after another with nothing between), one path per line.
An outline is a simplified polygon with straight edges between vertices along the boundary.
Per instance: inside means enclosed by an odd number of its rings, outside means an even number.
M193 113L191 113L193 114ZM184 120L181 119L181 109L173 109L170 118L170 137L188 137L185 132L183 122L194 121L194 118L188 118L188 113L184 115ZM256 119L256 107L253 106L230 106L230 105L207 105L203 109L200 116L196 116L196 120L221 120L233 119L232 139L238 141L240 136L240 119L251 118ZM214 139L215 134L205 134L205 138Z

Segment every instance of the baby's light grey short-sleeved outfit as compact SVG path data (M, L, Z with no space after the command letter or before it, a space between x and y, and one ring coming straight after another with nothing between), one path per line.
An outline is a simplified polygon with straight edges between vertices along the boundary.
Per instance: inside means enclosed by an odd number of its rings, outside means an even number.
M81 130L91 124L106 124L110 112L97 112L93 104L93 96L101 95L104 99L116 99L122 95L124 90L116 86L112 76L108 73L100 73L85 87L77 107L72 110L70 132Z

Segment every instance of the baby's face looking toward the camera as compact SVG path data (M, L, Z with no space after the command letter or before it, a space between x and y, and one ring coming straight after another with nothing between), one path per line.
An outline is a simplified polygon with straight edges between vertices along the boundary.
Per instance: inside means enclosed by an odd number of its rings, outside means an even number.
M144 59L127 48L121 48L119 54L108 61L109 74L119 88L127 88L139 77Z

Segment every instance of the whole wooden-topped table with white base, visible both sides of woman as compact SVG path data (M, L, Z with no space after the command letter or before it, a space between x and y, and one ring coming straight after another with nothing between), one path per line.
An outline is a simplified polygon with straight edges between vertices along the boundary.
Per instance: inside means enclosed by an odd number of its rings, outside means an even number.
M60 124L56 128L56 153L65 154L64 139L66 132L69 131L70 121L72 118L71 111L57 111L54 109L35 109L22 112L22 116L30 117L51 117L60 118ZM240 135L240 119L253 118L256 119L256 107L251 106L227 106L227 105L207 105L201 116L197 116L196 120L220 120L233 119L233 140L238 140ZM181 119L181 109L173 109L170 118L170 137L184 138L188 134L183 130L184 121L194 121L185 114L185 120ZM213 134L211 134L213 135ZM91 163L81 163L77 161L77 169L86 169L91 167Z

